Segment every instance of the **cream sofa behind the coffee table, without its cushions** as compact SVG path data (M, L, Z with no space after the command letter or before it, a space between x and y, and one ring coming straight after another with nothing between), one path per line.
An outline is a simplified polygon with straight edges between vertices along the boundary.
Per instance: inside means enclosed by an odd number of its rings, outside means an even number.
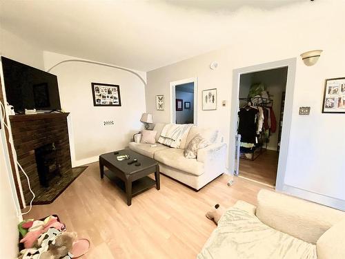
M153 130L157 131L156 142L165 125L155 124ZM197 159L188 159L184 157L184 148L197 134L213 139L214 142L199 149ZM159 143L155 145L130 142L129 148L157 160L161 173L195 190L201 189L226 171L226 144L217 130L193 126L181 140L180 148L170 148Z

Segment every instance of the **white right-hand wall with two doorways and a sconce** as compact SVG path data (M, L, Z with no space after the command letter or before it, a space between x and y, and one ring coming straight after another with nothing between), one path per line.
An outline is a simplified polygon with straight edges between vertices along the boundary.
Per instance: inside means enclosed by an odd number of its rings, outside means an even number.
M295 195L345 210L345 115L321 113L324 80L345 76L345 35L339 33L344 30L344 8L344 1L333 1L315 3L305 10L277 10L270 18L286 19L285 26L270 22L264 31L244 30L227 48L148 72L147 111L157 121L169 122L170 106L167 104L164 112L157 113L155 95L164 94L169 102L170 81L198 77L198 124L219 128L228 143L230 105L222 107L221 100L230 100L233 70L298 57L284 184L287 189L291 186L302 190ZM255 12L248 17L255 17ZM329 13L333 19L326 15ZM292 15L294 19L290 19ZM299 55L313 49L324 52L315 66L307 67ZM210 70L211 61L218 62L216 70ZM217 111L201 110L201 90L208 88L217 88ZM299 116L299 106L311 106L311 115Z

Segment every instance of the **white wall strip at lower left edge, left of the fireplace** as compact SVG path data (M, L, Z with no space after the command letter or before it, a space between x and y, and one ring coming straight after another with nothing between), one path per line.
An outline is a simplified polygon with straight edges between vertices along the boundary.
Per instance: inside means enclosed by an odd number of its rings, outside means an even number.
M10 176L12 172L9 169L8 153L4 151L6 148L5 140L3 139L3 129L0 130L0 220L1 231L3 235L0 238L0 251L3 258L17 258L18 253L18 229L17 224L19 218L17 218L16 204L14 199L17 200L17 196L12 194L10 185ZM6 161L7 160L7 161ZM14 187L14 186L13 186Z

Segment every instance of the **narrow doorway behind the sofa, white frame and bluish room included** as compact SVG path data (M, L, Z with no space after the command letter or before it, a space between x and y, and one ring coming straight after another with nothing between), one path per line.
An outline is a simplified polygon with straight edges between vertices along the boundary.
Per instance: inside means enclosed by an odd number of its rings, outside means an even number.
M171 116L175 124L197 124L197 79L190 78L170 83Z

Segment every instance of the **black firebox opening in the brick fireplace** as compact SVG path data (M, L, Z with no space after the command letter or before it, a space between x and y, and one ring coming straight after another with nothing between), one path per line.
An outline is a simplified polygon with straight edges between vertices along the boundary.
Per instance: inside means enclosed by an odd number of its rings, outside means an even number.
M55 142L34 149L39 183L44 187L49 187L50 180L57 175L61 177L61 165L57 159L57 149Z

